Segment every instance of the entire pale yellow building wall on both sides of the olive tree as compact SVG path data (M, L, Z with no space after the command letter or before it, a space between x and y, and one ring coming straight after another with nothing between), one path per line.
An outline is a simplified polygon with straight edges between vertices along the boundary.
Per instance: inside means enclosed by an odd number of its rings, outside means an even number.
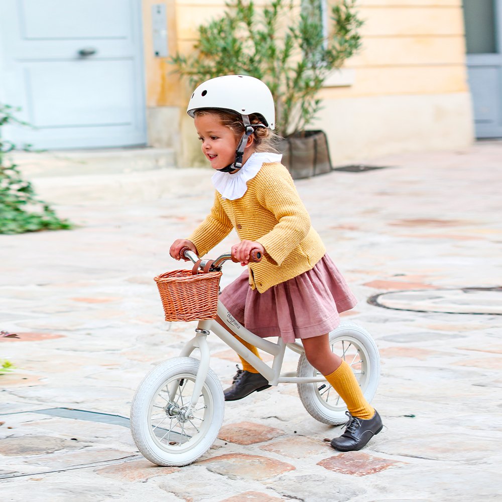
M143 0L151 144L171 144L179 165L196 165L199 145L185 114L191 90L148 47L148 11L159 1ZM219 0L163 3L171 54L190 51L197 27L225 10ZM333 163L468 145L473 128L461 0L359 0L358 6L362 49L321 91L323 109L312 124L327 133Z

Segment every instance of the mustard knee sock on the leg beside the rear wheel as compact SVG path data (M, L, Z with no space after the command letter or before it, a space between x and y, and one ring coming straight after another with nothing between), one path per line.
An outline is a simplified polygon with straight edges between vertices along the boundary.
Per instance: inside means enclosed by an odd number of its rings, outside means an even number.
M352 369L345 361L332 373L324 376L343 399L353 417L363 420L373 418L375 410L364 398Z

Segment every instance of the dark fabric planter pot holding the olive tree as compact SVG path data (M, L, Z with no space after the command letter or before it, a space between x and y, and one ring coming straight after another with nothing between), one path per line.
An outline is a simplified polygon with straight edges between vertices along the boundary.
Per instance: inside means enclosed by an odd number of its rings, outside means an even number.
M278 145L282 163L294 180L331 171L328 140L323 131L303 131L282 139Z

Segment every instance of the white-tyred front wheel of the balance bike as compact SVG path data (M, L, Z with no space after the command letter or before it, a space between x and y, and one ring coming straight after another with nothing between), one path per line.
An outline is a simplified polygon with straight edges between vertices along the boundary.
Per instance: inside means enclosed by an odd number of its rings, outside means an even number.
M156 366L138 387L131 432L140 452L157 465L195 462L213 444L223 422L224 397L209 369L194 410L188 410L199 361L175 357Z

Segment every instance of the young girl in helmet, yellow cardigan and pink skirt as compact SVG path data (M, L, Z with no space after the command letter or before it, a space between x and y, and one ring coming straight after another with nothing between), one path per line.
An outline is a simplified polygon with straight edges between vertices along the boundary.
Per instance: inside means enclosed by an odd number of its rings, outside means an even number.
M235 228L240 242L232 246L232 254L248 270L223 290L221 302L259 336L302 340L308 361L350 413L345 432L331 446L359 450L382 430L382 420L364 399L350 366L331 351L328 338L339 323L339 312L351 309L356 300L326 255L272 146L275 110L269 88L249 76L213 78L195 89L187 112L195 119L202 152L216 171L216 192L209 215L188 239L174 241L171 256L180 260L184 246L203 256ZM265 257L260 263L249 263L254 248ZM240 341L259 356L256 347ZM253 366L241 361L242 370L224 391L226 401L270 387Z

